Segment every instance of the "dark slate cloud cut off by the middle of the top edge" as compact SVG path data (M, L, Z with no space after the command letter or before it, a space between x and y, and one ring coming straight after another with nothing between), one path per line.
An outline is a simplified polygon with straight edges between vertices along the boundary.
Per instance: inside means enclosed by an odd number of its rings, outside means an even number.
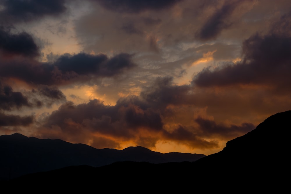
M161 10L182 0L92 0L109 10L126 13L140 13L145 10Z

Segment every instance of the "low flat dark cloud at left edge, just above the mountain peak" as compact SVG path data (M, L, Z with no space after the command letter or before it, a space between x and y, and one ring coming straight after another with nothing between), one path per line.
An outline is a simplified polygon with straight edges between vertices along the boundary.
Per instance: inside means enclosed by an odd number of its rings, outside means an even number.
M33 123L33 116L5 115L0 112L0 126L28 126Z

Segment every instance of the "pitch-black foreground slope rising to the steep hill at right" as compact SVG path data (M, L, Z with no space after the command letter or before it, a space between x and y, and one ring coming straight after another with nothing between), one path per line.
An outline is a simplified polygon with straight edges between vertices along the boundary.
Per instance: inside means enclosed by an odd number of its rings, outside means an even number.
M117 162L102 167L74 166L2 182L4 187L34 183L42 188L145 193L254 193L289 189L291 111L277 113L216 154L195 162L152 164ZM22 187L21 187L22 188ZM31 188L30 188L31 189Z

